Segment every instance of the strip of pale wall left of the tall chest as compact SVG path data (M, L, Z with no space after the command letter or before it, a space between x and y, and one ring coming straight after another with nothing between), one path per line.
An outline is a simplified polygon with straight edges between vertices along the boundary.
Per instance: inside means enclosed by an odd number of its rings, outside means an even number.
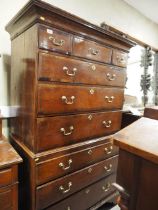
M10 36L5 25L20 10L27 0L0 0L0 106L9 104L8 88L10 75Z

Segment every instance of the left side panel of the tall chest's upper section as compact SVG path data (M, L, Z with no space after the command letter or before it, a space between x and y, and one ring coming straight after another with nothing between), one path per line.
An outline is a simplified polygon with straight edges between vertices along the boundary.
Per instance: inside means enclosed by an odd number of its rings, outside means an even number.
M18 117L11 119L12 134L33 150L36 95L37 26L12 41L11 106L19 106ZM29 131L29 132L28 132Z

